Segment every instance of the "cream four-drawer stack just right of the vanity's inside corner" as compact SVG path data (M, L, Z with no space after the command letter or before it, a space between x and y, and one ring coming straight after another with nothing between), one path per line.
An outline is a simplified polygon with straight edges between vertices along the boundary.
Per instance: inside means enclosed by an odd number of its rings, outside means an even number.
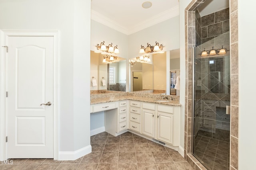
M141 133L141 102L130 101L130 129Z

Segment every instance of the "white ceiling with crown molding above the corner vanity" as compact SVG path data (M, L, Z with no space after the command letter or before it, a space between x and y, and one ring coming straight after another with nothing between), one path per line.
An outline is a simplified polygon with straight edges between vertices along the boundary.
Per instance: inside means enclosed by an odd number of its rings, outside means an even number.
M142 3L150 1L150 8ZM92 20L130 35L179 15L178 0L92 0Z

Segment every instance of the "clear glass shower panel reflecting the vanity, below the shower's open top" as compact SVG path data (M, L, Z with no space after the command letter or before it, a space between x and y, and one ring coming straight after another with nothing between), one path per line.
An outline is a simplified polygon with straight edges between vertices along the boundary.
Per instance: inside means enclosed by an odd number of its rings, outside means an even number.
M196 47L195 54L201 50ZM194 59L194 156L213 169L228 169L230 146L230 55ZM216 168L219 167L219 168Z

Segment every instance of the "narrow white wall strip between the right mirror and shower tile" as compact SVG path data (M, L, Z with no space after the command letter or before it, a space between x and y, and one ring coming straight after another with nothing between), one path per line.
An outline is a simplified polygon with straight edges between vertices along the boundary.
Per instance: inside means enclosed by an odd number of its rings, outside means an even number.
M185 122L185 8L191 0L180 0L180 146L184 148Z

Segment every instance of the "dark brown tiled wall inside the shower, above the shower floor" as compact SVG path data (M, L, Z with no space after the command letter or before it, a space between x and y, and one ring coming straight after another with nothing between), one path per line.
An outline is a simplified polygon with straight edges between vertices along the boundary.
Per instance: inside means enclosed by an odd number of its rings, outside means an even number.
M195 81L202 83L195 85L194 114L199 117L199 125L195 121L194 126L199 127L200 135L229 142L230 115L226 114L226 106L230 106L229 8L202 17L196 10L195 16ZM212 47L221 49L222 46L228 50L225 55L200 55L204 49L210 51ZM212 63L209 64L209 61Z

